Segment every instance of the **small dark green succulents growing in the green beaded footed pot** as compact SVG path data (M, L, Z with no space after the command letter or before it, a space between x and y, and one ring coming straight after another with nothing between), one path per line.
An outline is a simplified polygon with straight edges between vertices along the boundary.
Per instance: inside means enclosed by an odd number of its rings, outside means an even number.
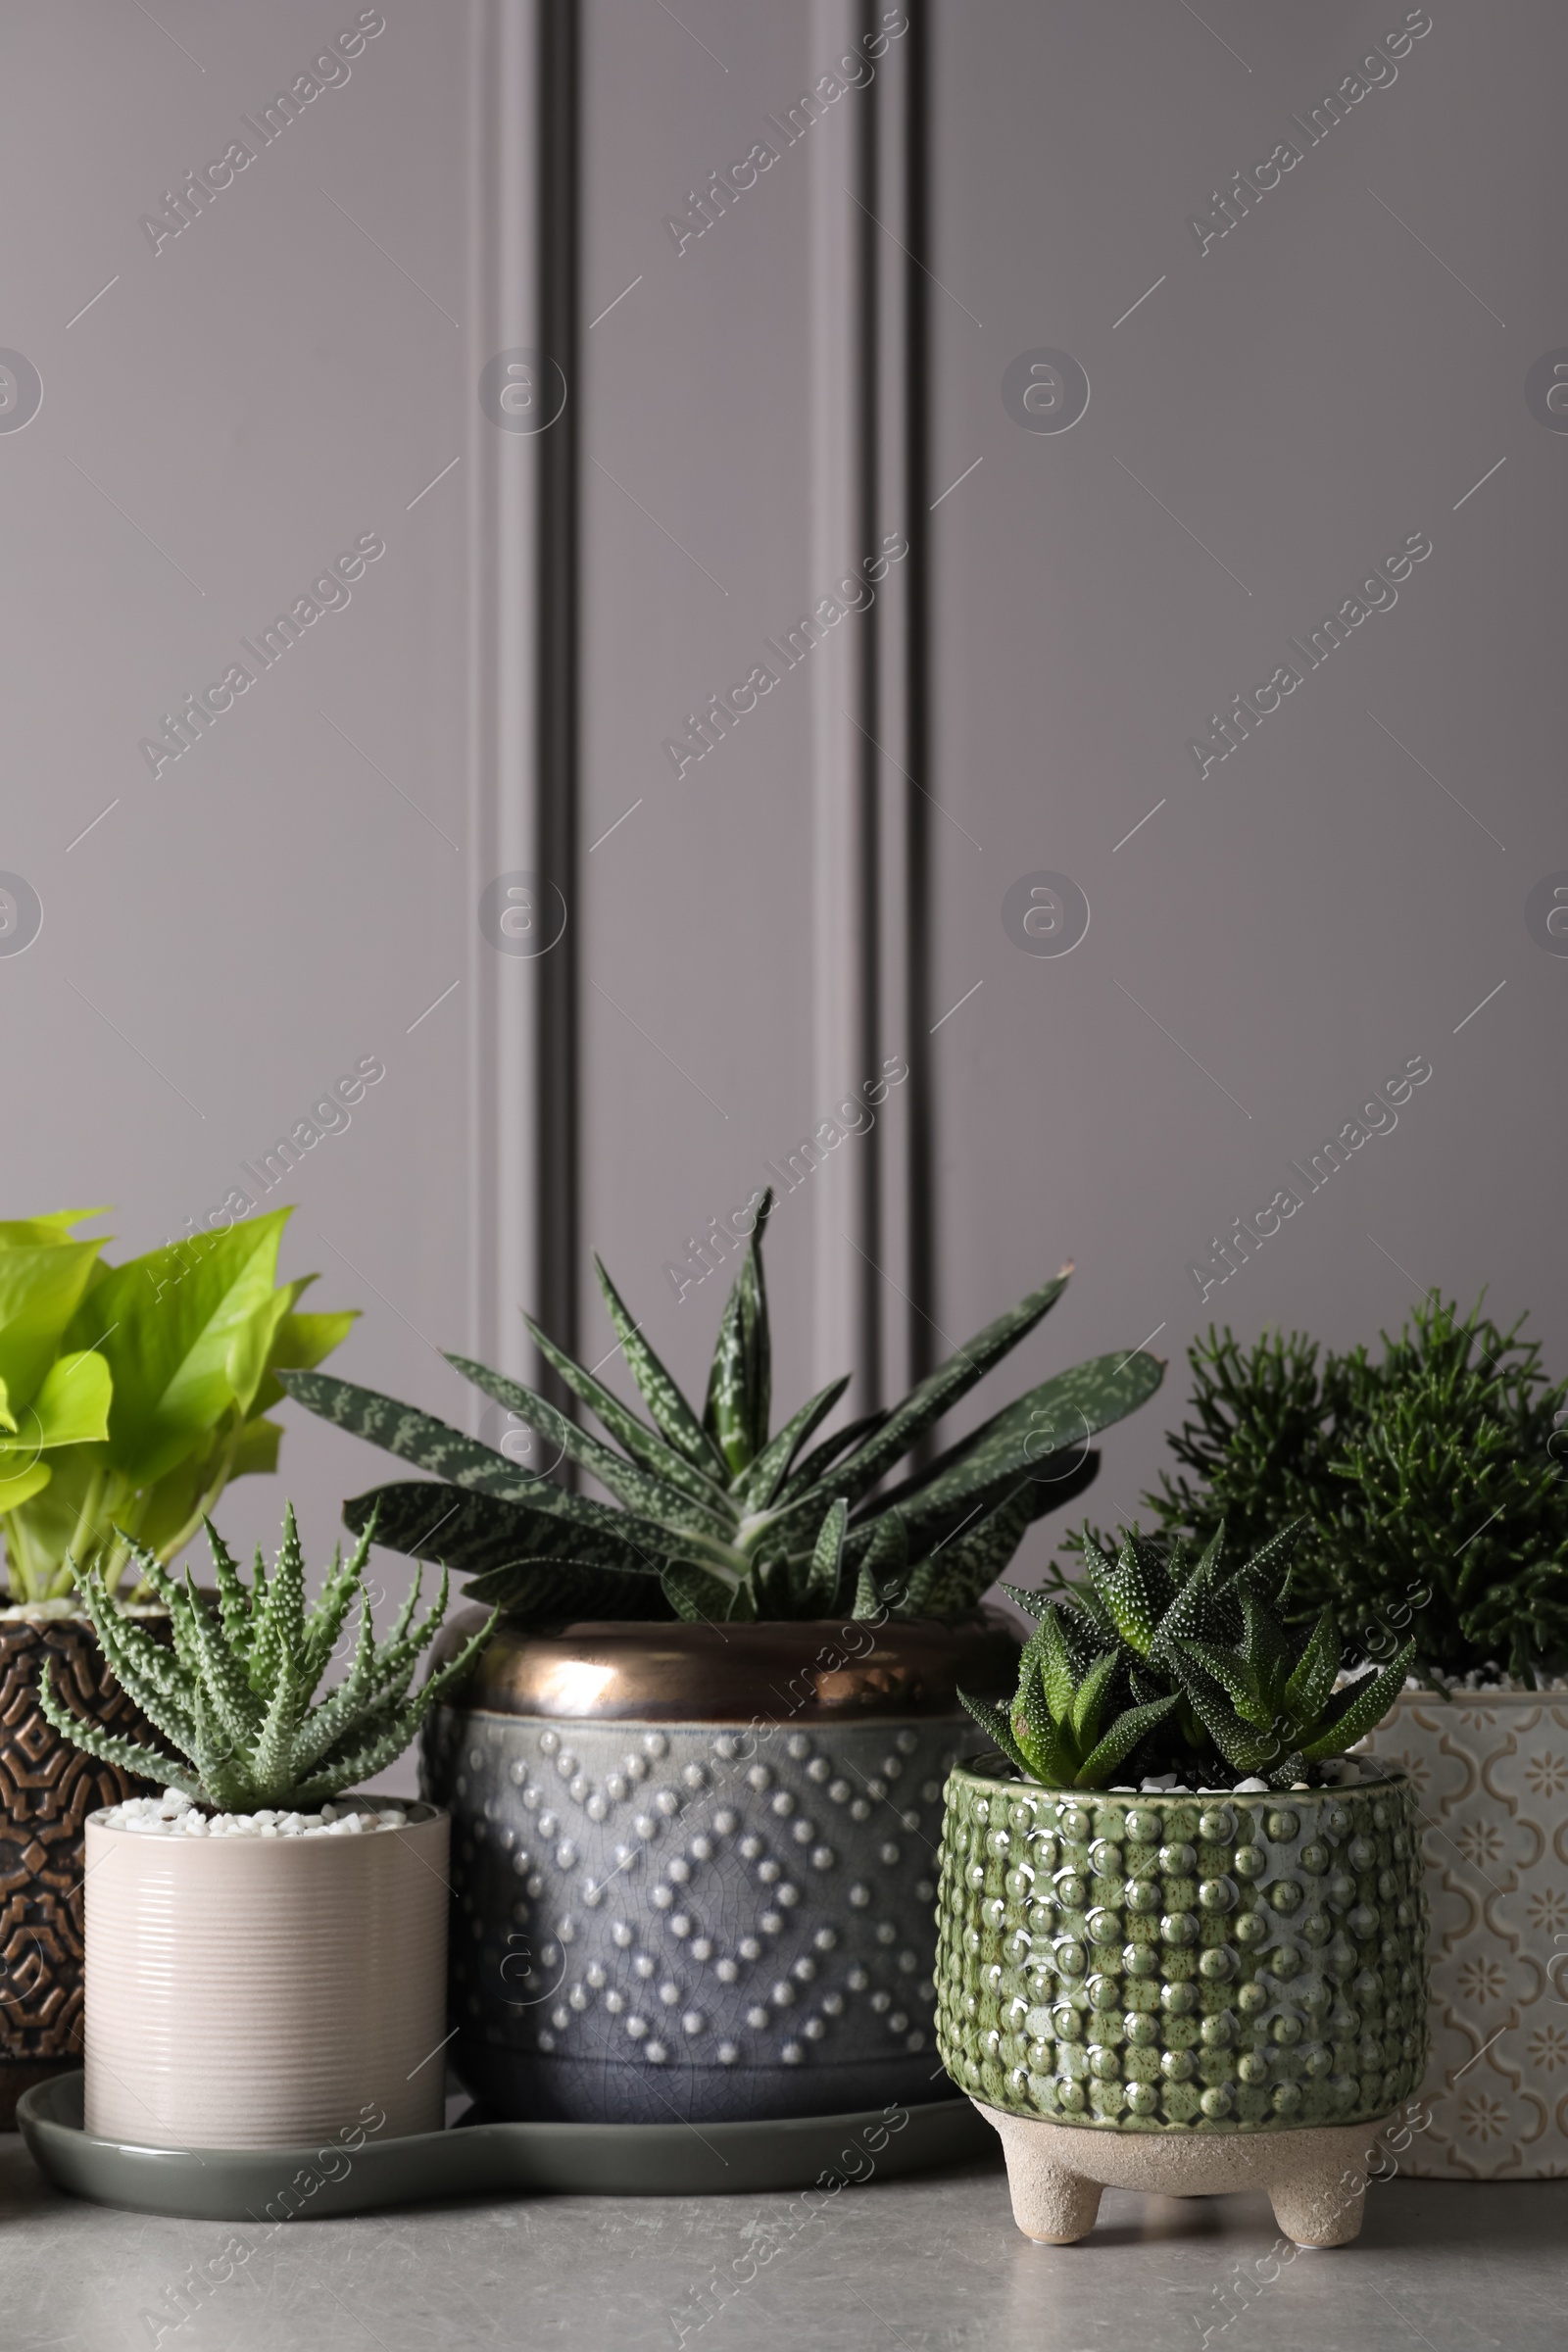
M1333 1611L1305 1637L1286 1630L1279 1609L1305 1534L1298 1522L1222 1571L1222 1529L1192 1564L1180 1543L1166 1552L1131 1534L1112 1555L1086 1531L1081 1585L1060 1597L1004 1585L1037 1618L1011 1710L959 1696L1044 1788L1107 1788L1124 1766L1206 1790L1312 1785L1382 1722L1413 1644L1340 1684Z

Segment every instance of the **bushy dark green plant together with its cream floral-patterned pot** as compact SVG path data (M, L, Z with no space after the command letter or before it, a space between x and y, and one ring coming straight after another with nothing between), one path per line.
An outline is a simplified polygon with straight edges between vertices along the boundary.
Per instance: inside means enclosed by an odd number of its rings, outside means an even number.
M1147 1501L1199 1538L1309 1512L1298 1597L1413 1684L1371 1733L1425 1820L1427 2129L1403 2171L1568 2173L1568 1383L1429 1296L1382 1357L1300 1334L1192 1350L1182 1465Z

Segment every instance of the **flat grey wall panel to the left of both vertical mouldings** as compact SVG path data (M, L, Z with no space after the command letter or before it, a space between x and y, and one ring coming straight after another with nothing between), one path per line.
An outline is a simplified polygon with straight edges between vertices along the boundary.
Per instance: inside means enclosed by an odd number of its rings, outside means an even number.
M343 1371L451 1409L468 981L418 1016L473 934L463 466L418 492L475 407L463 16L388 7L348 82L153 252L162 191L360 9L153 14L5 21L0 341L45 390L0 433L0 866L45 908L0 957L5 1214L110 1202L110 1254L148 1249L376 1056L266 1204L296 1209L284 1270L367 1310ZM153 779L139 739L360 534L386 555L353 602ZM381 1456L287 1418L282 1479L235 1486L226 1526L273 1536L287 1486L324 1550Z

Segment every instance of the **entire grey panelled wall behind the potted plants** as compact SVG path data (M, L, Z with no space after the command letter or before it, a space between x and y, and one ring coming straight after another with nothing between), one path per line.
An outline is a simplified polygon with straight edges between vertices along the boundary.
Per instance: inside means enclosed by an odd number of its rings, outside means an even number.
M287 1265L322 1268L322 1303L364 1305L346 1374L461 1418L437 1345L527 1362L531 976L480 941L475 903L527 863L529 503L475 383L529 341L538 294L520 228L531 9L386 0L346 87L158 256L139 228L355 14L7 14L0 191L21 226L0 341L45 383L33 423L0 435L0 866L45 903L35 946L0 957L7 1214L110 1200L122 1247L148 1247L376 1054L386 1080L289 1185ZM571 920L583 1232L698 1381L726 1275L677 1303L665 1261L872 1075L844 884L846 713L872 623L844 621L684 776L663 741L872 553L849 186L872 103L898 127L905 54L893 42L875 96L835 101L677 252L663 223L686 191L860 31L837 0L677 16L583 9ZM1201 254L1187 226L1401 19L1342 0L1215 0L1201 21L1154 0L936 9L938 736L919 781L943 811L931 1021L957 1007L933 1040L936 1317L957 1341L1072 1254L1018 1381L1159 1329L1173 1385L1110 1439L1098 1512L1147 1482L1211 1315L1342 1343L1427 1282L1465 1298L1488 1282L1500 1315L1530 1305L1568 1352L1552 1256L1568 964L1523 927L1530 884L1568 868L1568 442L1523 397L1530 362L1568 343L1561 14L1434 7L1392 87L1316 146L1291 134L1300 165L1229 235ZM515 87L480 89L501 35ZM1091 381L1060 435L1001 400L1039 348ZM882 527L910 520L889 496ZM139 736L360 532L386 557L353 604L153 781ZM1208 713L1295 659L1286 640L1415 532L1432 555L1399 604L1199 779L1185 746ZM896 793L893 717L886 750ZM889 830L893 901L898 856ZM1091 906L1067 957L1001 927L1009 887L1044 870ZM919 1044L893 985L877 1044ZM1199 1303L1190 1263L1211 1237L1410 1056L1432 1080L1399 1127ZM879 1127L889 1334L905 1108L896 1091ZM844 1143L776 1221L785 1406L856 1329L863 1150ZM583 1298L592 1357L609 1338L592 1345L588 1282ZM289 1414L284 1479L235 1489L228 1517L266 1531L287 1484L322 1538L381 1470Z

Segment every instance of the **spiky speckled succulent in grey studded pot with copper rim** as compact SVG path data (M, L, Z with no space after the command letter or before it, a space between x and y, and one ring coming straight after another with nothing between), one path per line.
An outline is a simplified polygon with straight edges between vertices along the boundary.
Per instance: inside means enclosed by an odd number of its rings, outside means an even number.
M1088 1437L1164 1371L1140 1350L1077 1364L889 1486L1070 1268L891 1411L820 1437L832 1381L773 1432L766 1209L701 1411L604 1268L646 1418L536 1324L607 1439L451 1357L621 1508L388 1397L284 1376L442 1479L360 1496L348 1524L376 1512L383 1543L468 1571L505 1611L423 1743L423 1790L454 1816L454 2065L503 2114L703 2122L943 2096L938 1806L973 1745L954 1684L1006 1689L1016 1658L980 1595L1093 1477Z

